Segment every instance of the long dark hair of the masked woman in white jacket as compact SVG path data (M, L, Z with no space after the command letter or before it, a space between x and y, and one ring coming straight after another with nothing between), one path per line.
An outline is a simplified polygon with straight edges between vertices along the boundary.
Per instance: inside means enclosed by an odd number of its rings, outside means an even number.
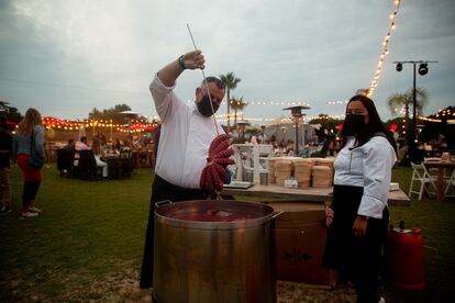
M371 99L364 94L356 94L353 98L351 98L349 102L347 102L346 109L353 101L360 101L362 104L367 109L368 111L368 117L369 122L365 125L365 127L357 133L356 146L363 146L365 143L367 143L373 136L375 136L376 133L384 133L387 136L387 139L389 141L390 145L393 147L395 150L397 150L397 145L395 143L392 134L387 130L387 127L384 125L382 121L379 117L379 113L376 110L375 103ZM344 121L345 123L346 121ZM343 148L346 145L347 135L345 133L345 125L343 123L343 130L341 132L342 135L342 144L341 147Z

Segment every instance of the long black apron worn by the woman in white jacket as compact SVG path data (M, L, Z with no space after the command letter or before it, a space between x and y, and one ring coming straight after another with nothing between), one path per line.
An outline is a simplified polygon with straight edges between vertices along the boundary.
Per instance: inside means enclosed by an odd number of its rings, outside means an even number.
M389 211L382 218L368 218L366 236L353 234L364 188L334 186L332 209L334 217L328 227L322 265L351 279L358 292L358 302L377 302L381 248L387 234Z

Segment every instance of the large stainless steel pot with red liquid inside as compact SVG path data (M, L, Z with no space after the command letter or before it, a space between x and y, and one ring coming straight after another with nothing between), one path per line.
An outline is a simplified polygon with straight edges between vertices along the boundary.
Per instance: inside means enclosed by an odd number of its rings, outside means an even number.
M245 220L210 222L242 216ZM274 209L200 200L155 211L154 298L165 302L275 302ZM209 222L207 222L209 221Z

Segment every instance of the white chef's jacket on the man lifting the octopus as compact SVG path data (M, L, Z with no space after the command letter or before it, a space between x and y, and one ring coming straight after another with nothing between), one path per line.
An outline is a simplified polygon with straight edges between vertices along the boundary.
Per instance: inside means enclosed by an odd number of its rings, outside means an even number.
M213 116L203 116L193 103L180 100L174 93L175 86L164 86L156 75L149 87L162 120L155 173L174 186L199 189L217 130ZM217 124L220 134L224 134L221 125Z

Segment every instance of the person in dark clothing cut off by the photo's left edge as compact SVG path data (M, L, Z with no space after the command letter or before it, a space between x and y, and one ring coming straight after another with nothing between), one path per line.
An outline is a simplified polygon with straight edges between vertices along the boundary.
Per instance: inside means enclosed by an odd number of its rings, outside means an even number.
M0 116L0 214L11 213L12 136L7 131L7 119Z

